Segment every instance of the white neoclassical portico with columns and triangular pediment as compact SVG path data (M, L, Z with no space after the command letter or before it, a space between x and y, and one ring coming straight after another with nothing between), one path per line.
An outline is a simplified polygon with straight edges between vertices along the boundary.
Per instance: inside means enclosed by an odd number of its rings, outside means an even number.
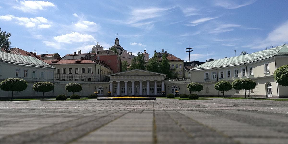
M155 96L165 91L166 74L162 73L134 69L108 75L108 77L110 77L109 91L114 96Z

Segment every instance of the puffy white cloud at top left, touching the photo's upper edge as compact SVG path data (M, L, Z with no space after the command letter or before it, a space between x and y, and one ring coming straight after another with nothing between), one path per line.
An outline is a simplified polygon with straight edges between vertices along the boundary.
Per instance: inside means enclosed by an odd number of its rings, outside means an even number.
M56 7L49 1L20 1L20 5L13 6L13 8L22 10L23 12L36 12L48 7Z

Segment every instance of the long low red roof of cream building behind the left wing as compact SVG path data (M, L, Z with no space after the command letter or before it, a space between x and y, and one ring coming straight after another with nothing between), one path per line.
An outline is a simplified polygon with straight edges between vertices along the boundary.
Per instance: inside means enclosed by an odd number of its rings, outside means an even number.
M97 63L97 62L94 62L92 60L81 60L81 59L72 59L72 60L69 60L69 59L62 59L62 60L42 60L43 62L46 62L50 65L53 65L53 64L84 64L84 63Z

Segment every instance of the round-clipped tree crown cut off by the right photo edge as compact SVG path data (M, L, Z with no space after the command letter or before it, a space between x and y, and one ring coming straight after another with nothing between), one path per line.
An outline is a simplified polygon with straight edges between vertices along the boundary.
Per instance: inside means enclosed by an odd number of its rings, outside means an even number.
M281 86L288 86L288 65L283 65L274 71L275 82Z

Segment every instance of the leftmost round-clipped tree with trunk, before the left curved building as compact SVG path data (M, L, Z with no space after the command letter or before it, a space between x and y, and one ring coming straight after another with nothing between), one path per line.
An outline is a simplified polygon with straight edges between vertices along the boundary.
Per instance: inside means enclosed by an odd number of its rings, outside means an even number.
M27 87L28 83L24 79L19 78L5 79L3 82L0 83L1 90L12 92L12 100L14 91L21 92L23 90L26 90Z

